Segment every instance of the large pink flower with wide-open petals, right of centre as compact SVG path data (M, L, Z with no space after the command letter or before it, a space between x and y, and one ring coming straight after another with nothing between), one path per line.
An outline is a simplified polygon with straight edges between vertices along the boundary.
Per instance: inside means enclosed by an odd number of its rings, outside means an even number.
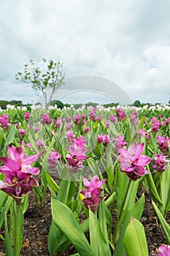
M119 150L120 170L125 172L132 181L136 181L148 173L144 165L149 164L150 157L142 155L143 149L144 143L137 145L136 142L133 142L128 149L120 148Z

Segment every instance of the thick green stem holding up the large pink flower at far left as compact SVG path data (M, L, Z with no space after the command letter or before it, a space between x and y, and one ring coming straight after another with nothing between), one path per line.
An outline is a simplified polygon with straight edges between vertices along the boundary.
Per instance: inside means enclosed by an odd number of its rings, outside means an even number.
M19 256L20 255L20 210L21 210L21 200L16 201L16 208L15 208L15 240L14 240L14 255L13 256Z

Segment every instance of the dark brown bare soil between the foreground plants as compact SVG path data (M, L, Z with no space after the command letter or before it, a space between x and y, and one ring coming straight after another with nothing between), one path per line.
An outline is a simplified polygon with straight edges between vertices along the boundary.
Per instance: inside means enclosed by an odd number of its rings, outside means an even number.
M151 195L149 191L145 193L145 206L141 222L144 225L147 236L147 244L150 255L155 253L155 249L161 244L168 244L163 229L158 222L155 211L152 208ZM170 224L170 214L167 217ZM50 229L51 222L51 207L50 207L50 192L47 191L45 196L44 206L37 203L34 192L30 193L29 206L24 214L24 233L23 246L21 249L21 256L47 256L49 255L47 249L47 236ZM4 236L4 230L1 230ZM76 251L73 246L69 246L66 252L57 253L57 255L72 255ZM0 239L0 256L4 256L4 241ZM120 255L121 256L121 255Z

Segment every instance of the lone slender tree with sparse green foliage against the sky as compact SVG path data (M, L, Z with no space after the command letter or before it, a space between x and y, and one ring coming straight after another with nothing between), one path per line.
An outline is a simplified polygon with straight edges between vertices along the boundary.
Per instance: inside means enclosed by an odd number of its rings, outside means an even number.
M64 83L65 68L61 61L42 59L42 61L36 64L31 59L28 64L24 65L24 71L18 72L15 78L28 83L39 97L42 94L45 99L45 107L47 108L50 105L53 94ZM47 99L48 93L49 99Z

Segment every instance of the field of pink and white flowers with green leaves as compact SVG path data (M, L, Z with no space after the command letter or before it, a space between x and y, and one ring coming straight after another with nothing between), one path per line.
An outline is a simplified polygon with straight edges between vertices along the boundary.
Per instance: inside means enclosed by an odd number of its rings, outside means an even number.
M0 255L22 255L33 194L42 211L50 200L48 255L170 255L169 105L9 105L0 150ZM152 252L147 193L166 238Z

